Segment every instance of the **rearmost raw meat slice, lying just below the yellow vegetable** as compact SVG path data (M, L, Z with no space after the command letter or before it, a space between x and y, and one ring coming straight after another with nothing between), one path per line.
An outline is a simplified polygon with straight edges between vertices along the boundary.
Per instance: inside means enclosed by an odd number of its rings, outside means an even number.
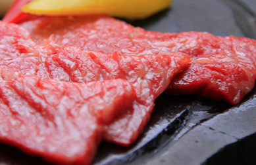
M51 36L58 45L105 54L189 54L192 65L172 81L168 90L171 94L199 94L236 104L253 88L256 79L256 42L245 37L145 31L107 16L39 17L21 26L37 43ZM209 69L209 65L218 67ZM234 72L238 77L232 75ZM188 76L190 73L195 76Z

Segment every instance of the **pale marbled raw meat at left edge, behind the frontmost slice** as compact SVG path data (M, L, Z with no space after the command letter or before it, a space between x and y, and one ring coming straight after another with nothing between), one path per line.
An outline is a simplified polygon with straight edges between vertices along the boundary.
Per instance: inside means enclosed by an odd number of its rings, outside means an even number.
M39 46L32 41L28 31L16 24L0 21L0 67L3 79L14 73L22 75L38 75L41 79L49 79L45 71L45 58L58 53L62 46L48 40Z

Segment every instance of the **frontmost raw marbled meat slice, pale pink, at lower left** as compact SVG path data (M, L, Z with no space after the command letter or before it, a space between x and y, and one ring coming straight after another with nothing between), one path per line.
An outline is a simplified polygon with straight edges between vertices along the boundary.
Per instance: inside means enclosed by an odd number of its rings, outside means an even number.
M103 128L134 100L124 80L68 83L35 76L0 85L0 141L57 164L91 164Z

